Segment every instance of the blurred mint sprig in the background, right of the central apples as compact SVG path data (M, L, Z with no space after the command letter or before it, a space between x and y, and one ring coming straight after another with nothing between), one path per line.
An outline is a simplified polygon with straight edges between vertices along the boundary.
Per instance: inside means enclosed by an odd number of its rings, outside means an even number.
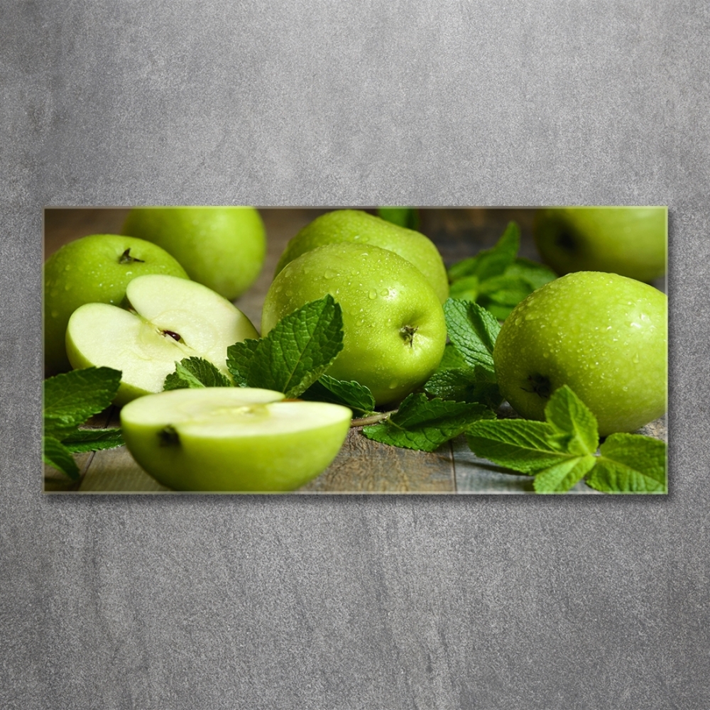
M519 258L519 249L520 228L510 222L495 246L449 268L449 295L479 303L505 320L532 291L557 278L547 266Z

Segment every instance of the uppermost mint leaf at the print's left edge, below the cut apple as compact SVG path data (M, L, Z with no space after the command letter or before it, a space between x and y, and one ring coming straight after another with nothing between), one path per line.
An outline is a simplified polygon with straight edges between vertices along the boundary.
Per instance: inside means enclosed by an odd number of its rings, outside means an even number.
M110 367L72 370L44 382L44 433L61 440L89 417L111 405L121 371Z

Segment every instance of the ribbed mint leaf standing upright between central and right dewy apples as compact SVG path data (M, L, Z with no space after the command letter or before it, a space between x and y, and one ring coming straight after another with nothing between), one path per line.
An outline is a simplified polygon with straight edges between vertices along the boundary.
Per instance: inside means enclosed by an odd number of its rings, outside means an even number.
M453 346L467 366L480 366L493 376L493 346L501 326L484 307L449 298L444 303L447 331Z

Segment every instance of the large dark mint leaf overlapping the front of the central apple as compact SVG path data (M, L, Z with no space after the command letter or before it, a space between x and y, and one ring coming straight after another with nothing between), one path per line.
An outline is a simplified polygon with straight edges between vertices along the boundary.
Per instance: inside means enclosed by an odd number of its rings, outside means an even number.
M245 348L233 348L232 362L235 356L240 359L236 367L239 385L246 383L298 397L343 349L342 310L331 295L326 295L280 320L256 346L250 342Z

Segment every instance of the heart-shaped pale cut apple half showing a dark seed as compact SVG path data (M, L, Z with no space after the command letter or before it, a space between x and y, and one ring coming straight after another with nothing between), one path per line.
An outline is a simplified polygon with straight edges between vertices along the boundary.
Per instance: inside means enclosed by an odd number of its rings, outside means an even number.
M67 354L75 368L121 370L116 404L163 390L183 358L201 357L227 374L226 349L258 334L231 302L195 281L175 276L134 278L129 309L87 303L67 326Z

